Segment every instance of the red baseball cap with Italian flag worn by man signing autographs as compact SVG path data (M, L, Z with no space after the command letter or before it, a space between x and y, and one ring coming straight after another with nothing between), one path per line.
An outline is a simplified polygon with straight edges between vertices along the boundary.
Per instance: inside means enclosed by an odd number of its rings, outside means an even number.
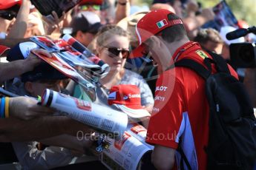
M131 52L130 58L137 58L142 56L142 51L145 48L143 44L152 35L157 35L167 27L171 27L176 24L183 24L183 21L179 19L170 20L169 15L175 15L169 10L153 10L143 16L136 25L136 34L139 41L139 47Z

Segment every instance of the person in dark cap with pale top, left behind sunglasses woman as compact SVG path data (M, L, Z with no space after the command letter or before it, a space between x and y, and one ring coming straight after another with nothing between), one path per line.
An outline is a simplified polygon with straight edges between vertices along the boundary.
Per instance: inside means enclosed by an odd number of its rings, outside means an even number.
M90 11L78 13L70 23L71 35L85 47L93 41L100 27L102 24L100 24L99 16Z

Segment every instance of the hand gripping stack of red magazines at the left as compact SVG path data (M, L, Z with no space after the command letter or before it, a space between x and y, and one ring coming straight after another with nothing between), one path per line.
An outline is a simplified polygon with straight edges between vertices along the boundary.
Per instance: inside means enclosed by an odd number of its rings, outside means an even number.
M36 55L33 54L33 52L45 55L49 58L52 57L52 55L47 52L47 50L43 50L43 49L34 49L31 50L32 52L30 52L30 55L24 60L24 69L26 69L26 71L32 71L34 69L34 67L36 67L37 65L39 65L42 62L42 59L37 57Z

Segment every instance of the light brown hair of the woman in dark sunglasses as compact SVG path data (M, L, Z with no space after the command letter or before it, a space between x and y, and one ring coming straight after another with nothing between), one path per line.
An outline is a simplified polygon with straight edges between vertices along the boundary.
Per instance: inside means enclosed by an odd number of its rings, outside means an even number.
M96 45L98 47L104 47L108 39L112 38L114 35L125 36L128 39L130 38L128 32L123 30L121 27L107 24L96 34Z

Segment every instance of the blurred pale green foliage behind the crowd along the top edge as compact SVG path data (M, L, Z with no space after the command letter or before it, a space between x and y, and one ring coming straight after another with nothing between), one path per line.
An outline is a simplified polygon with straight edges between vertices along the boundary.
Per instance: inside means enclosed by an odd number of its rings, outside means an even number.
M137 0L133 0L136 2ZM197 0L203 7L214 7L220 0ZM256 26L256 0L226 0L237 20L246 21L249 26ZM152 0L139 0L138 4L151 4ZM137 4L136 3L136 4ZM134 3L135 4L135 3Z

